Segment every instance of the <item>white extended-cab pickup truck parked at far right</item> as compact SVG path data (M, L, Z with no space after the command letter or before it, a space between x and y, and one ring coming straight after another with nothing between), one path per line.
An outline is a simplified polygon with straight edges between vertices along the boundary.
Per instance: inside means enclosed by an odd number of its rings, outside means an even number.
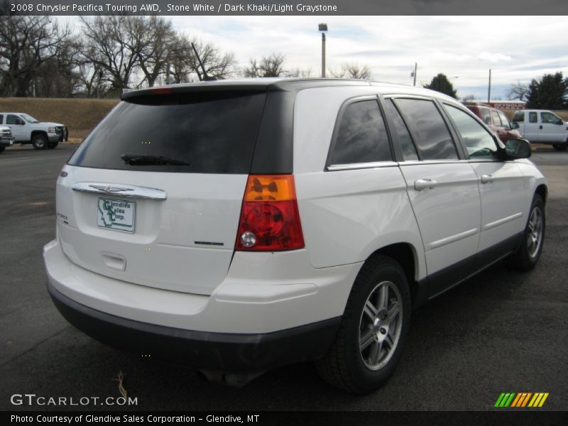
M520 109L513 114L513 129L531 143L552 144L556 151L568 148L568 123L552 111Z

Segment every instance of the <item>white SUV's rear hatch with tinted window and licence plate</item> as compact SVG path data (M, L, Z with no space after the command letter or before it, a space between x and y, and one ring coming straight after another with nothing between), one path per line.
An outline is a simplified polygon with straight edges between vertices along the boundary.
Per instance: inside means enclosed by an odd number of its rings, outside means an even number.
M58 180L67 257L129 283L212 293L231 263L265 101L266 88L121 102Z

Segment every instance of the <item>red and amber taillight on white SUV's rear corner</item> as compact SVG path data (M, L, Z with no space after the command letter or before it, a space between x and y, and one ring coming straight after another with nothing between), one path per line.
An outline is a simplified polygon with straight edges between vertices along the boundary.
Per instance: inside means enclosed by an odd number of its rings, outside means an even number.
M302 249L293 175L249 175L235 250Z

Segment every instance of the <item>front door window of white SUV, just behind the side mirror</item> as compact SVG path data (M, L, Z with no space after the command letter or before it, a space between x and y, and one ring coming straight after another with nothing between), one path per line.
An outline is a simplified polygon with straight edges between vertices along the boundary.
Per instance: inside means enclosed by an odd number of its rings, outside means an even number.
M444 109L454 122L471 158L492 158L496 155L497 146L493 137L479 122L452 105L444 104Z

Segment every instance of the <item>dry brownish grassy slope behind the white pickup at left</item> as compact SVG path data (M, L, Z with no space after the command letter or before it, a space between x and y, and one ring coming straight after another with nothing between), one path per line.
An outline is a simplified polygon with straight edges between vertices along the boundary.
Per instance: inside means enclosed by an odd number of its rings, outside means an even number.
M81 140L119 99L0 98L0 111L25 112L41 121L66 124L72 141Z

